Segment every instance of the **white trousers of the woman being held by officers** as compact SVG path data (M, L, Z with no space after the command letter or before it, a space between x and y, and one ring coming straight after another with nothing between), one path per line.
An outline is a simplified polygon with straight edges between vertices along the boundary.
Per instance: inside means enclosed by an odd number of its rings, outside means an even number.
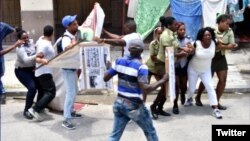
M188 95L187 98L193 97L193 94L196 89L196 84L198 78L201 79L202 83L204 84L207 95L209 99L210 106L218 105L217 96L215 90L213 88L213 79L211 74L211 67L208 68L205 72L197 72L192 68L191 65L188 66Z

